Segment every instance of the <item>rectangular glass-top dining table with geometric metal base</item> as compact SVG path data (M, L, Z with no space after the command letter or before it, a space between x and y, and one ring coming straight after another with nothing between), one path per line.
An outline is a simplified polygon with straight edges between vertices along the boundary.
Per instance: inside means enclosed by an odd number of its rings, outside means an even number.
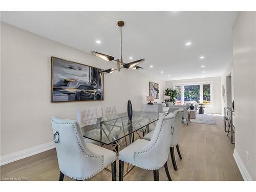
M96 142L96 144L100 144L101 146L111 146L111 149L116 152L118 156L118 152L122 150L123 147L134 141L135 133L141 138L141 135L143 136L150 131L150 126L153 126L158 119L159 113L133 111L131 120L126 112L114 115L107 120L96 118L78 123L83 137L88 139L89 142ZM124 176L133 168L134 166L130 167L129 164L127 164ZM111 172L108 168L105 168L105 170ZM119 175L118 170L117 175Z

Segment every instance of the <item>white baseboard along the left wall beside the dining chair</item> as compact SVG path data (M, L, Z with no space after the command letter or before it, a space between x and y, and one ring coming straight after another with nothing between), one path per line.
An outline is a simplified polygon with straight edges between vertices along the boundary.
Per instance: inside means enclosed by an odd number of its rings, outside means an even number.
M0 166L11 163L13 161L17 161L20 159L24 159L26 157L30 157L32 155L36 155L38 153L42 153L48 150L55 148L55 143L49 142L42 145L37 145L31 148L26 148L26 150L18 151L15 153L11 153L8 155L1 156L0 158Z

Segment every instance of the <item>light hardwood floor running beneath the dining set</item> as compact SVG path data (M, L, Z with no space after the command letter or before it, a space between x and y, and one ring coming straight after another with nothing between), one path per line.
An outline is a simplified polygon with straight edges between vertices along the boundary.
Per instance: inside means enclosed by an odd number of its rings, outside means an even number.
M238 166L233 159L234 144L225 135L223 117L215 115L217 125L189 123L183 125L180 151L175 150L178 170L168 159L173 181L242 181ZM118 165L118 163L117 163ZM30 181L57 181L58 161L55 149L18 160L0 167L1 178L25 177ZM164 168L159 171L160 181L167 181ZM65 181L74 179L65 176ZM87 181L109 181L111 173L103 170ZM135 167L124 177L124 181L153 181L153 172Z

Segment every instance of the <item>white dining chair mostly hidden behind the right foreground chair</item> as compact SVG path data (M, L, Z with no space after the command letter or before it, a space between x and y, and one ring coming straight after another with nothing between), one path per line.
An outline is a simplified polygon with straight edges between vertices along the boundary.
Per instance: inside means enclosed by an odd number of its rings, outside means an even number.
M181 135L181 130L182 130L182 117L184 116L184 109L180 108L179 110L176 110L174 112L174 131L173 131L173 136L172 139L170 140L170 157L173 162L173 166L175 170L178 170L176 161L175 161L175 155L174 155L174 147L176 146L178 155L180 159L182 159L181 154L180 154L180 149L179 149L179 141L180 141L180 135ZM146 140L151 140L153 136L154 130L148 134L146 134L143 139Z

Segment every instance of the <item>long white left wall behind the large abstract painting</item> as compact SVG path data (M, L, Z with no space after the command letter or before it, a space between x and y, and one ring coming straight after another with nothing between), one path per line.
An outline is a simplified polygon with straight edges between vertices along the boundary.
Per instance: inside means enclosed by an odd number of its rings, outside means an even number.
M149 81L160 83L157 101L162 101L164 81L123 69L105 74L104 101L51 103L51 56L111 68L111 62L1 23L1 156L53 141L52 115L76 119L76 109L89 105L116 105L118 112L125 112L127 100L140 110Z

